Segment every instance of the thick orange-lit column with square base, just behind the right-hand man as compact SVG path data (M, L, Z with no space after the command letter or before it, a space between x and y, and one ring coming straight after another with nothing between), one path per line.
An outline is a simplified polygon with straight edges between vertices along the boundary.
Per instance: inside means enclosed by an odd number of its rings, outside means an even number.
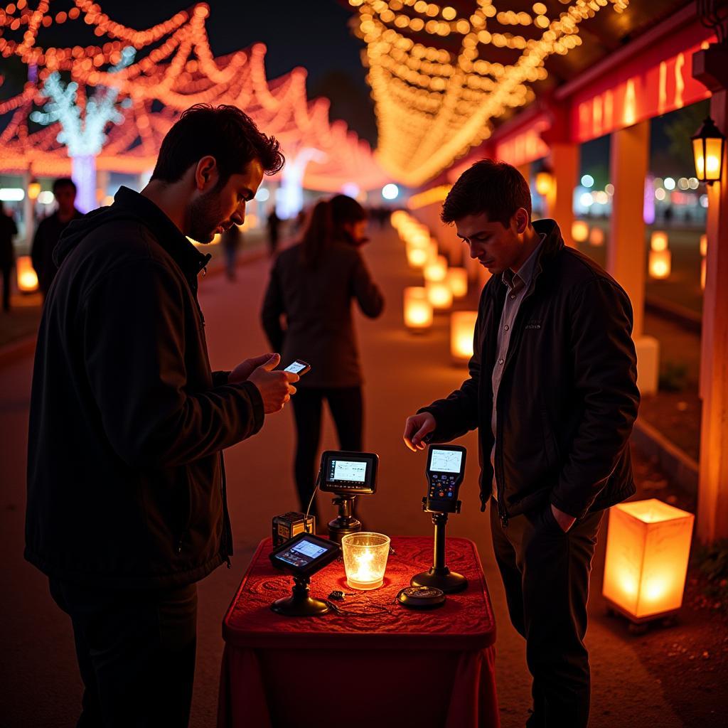
M606 269L632 301L637 349L637 384L643 395L657 392L660 343L644 336L644 181L649 163L649 120L612 133L609 160L614 184Z

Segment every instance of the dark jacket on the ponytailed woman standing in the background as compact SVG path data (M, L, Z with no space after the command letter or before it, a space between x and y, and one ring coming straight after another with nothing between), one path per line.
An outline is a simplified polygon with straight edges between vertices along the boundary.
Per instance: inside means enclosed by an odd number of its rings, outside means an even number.
M353 244L333 243L311 267L301 259L300 244L276 258L261 320L273 350L281 352L282 365L294 359L311 365L296 387L362 384L352 299L371 318L384 308L384 298Z

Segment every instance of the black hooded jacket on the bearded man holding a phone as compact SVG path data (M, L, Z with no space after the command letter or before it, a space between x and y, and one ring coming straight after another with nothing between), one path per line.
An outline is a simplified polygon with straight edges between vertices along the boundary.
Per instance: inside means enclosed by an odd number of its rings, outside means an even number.
M149 199L66 229L36 348L25 558L53 577L161 587L232 553L221 451L257 432L258 389L211 372L203 256Z

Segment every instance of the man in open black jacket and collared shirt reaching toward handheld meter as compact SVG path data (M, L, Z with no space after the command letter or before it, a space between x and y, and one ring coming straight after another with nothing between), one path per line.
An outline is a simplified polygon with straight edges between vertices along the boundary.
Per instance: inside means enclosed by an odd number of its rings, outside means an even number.
M481 510L510 618L534 678L528 726L585 727L584 636L591 559L604 510L635 492L632 308L597 264L566 248L553 220L531 223L515 167L483 160L453 186L443 222L491 272L470 377L405 424L412 450L478 427Z

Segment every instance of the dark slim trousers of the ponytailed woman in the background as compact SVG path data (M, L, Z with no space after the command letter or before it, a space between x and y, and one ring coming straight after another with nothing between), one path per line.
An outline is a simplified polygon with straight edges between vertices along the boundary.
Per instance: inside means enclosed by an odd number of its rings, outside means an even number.
M321 438L323 400L328 401L341 450L362 448L363 402L361 387L301 387L291 398L296 419L296 461L294 474L301 510L306 510L316 480L316 454ZM318 515L316 502L312 515ZM318 522L318 518L316 519Z

